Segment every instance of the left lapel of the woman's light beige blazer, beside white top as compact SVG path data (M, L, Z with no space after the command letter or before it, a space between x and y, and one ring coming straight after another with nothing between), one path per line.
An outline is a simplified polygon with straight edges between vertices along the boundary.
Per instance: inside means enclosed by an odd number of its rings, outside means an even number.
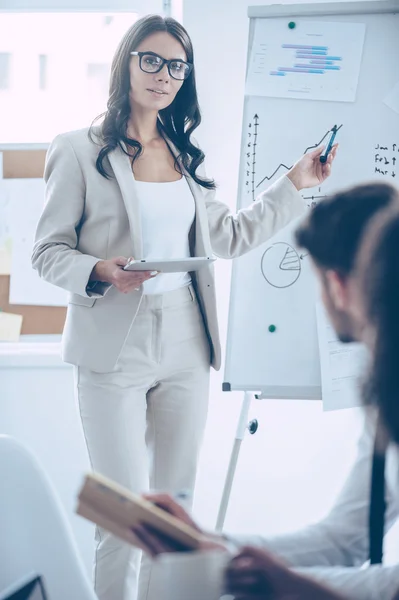
M141 233L140 204L130 160L118 146L108 154L108 158L125 203L132 237L133 257L141 259L143 258L143 239Z

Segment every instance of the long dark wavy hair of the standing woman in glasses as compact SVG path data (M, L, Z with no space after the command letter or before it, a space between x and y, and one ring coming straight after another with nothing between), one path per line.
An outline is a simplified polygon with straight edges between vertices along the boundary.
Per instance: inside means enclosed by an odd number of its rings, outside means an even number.
M125 154L131 157L132 164L143 151L140 142L127 135L130 117L130 52L136 50L145 38L158 31L167 32L176 38L184 48L187 61L194 63L190 37L184 27L172 18L149 15L136 21L125 33L112 61L107 110L93 121L89 130L89 137L92 141L94 141L94 135L101 140L102 148L96 161L96 167L98 172L107 179L110 178L110 175L104 167L104 159L111 150L119 146ZM101 124L100 136L98 136L94 133L93 126L102 117L104 120ZM175 160L175 169L181 172L179 167L179 161L181 161L194 181L204 188L215 189L213 180L203 179L196 174L198 166L204 160L204 153L190 141L190 136L200 123L201 113L193 69L172 104L159 112L157 126L160 135L170 139L179 151L179 156ZM126 152L122 142L126 144L130 152Z

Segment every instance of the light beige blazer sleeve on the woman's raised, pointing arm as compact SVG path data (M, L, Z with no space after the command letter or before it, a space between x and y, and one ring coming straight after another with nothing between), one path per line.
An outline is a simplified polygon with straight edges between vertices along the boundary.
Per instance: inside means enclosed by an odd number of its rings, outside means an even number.
M237 214L217 200L214 191L207 193L205 203L212 249L220 258L236 258L260 246L302 215L306 207L285 175Z

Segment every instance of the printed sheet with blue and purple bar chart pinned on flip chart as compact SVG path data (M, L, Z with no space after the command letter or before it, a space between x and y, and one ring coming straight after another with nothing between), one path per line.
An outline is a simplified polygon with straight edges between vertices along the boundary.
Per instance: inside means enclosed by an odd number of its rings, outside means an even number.
M354 102L363 53L363 23L257 19L246 94Z

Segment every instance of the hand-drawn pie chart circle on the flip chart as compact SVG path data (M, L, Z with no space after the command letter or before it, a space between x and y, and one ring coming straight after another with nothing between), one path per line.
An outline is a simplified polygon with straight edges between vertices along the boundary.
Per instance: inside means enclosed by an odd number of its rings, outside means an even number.
M262 256L263 277L275 288L294 285L301 274L301 268L298 252L286 242L275 242Z

